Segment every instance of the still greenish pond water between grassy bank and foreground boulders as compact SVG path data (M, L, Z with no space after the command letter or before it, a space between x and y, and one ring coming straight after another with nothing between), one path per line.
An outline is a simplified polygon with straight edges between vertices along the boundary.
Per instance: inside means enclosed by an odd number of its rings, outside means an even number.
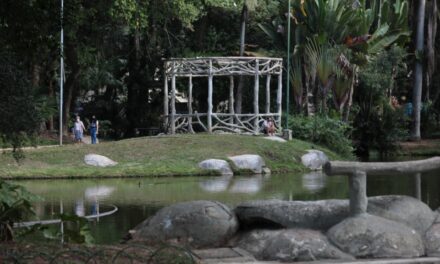
M93 180L17 181L44 200L34 206L40 220L61 210L80 216L118 211L91 221L98 244L121 241L128 230L160 208L182 201L216 200L230 207L248 200L319 200L348 198L348 179L322 173L252 177L170 177ZM416 175L369 176L368 196L419 196L432 209L440 206L440 171ZM31 220L31 219L29 219ZM58 224L59 225L59 224Z

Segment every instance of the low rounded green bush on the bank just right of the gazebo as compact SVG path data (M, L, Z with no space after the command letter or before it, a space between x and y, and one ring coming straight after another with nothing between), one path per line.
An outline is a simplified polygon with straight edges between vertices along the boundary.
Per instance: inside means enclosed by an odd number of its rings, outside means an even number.
M349 136L352 128L347 123L327 116L297 115L290 117L289 128L295 138L326 146L345 157L353 157Z

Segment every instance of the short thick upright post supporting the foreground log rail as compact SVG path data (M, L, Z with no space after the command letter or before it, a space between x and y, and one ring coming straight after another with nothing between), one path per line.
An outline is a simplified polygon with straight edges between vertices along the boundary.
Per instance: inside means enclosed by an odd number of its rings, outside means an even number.
M355 216L367 212L367 173L355 171L348 177L350 186L350 215Z

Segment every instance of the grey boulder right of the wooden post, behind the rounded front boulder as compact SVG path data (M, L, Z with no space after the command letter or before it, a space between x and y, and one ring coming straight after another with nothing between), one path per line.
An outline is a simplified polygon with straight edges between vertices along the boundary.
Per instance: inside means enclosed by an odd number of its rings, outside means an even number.
M370 197L367 211L414 228L420 235L425 234L435 220L434 213L428 205L403 195Z

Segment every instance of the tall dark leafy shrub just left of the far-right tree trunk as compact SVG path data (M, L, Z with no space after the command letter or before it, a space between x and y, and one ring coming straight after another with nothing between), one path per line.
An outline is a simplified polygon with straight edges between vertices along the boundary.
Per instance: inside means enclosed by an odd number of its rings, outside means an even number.
M404 57L401 48L392 47L372 59L359 73L354 117L354 138L359 154L368 154L371 149L382 155L389 154L396 150L398 141L408 136L408 102L398 102L406 98L405 81L399 78L405 74Z

